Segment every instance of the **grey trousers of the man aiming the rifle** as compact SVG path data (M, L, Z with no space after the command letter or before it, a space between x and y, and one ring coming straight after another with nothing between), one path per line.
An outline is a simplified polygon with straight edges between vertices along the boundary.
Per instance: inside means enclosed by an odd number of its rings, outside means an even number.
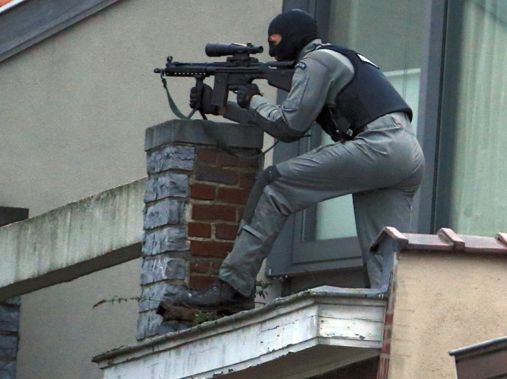
M372 254L369 246L384 226L407 232L413 197L422 180L424 156L404 113L383 116L354 140L318 147L276 165L280 175L250 199L251 221L220 268L220 279L252 294L262 261L287 217L333 197L353 195L355 224L371 288L389 286L393 251Z

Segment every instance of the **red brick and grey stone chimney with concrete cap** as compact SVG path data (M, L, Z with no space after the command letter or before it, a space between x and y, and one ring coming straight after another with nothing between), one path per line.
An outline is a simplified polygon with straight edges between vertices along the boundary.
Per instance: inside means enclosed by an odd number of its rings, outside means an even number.
M261 165L262 138L259 129L208 120L147 129L138 340L187 328L162 325L159 301L217 280Z

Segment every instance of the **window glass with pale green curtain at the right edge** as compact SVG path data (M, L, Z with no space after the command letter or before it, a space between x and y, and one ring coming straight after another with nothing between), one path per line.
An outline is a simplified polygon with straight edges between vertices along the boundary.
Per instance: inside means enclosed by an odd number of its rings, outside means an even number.
M441 173L452 174L449 226L491 235L507 226L507 1L453 3L462 23L446 50L446 72L454 80L444 81L444 104L452 101L455 115L449 119L448 109L442 111L443 133L454 130L446 137L453 139L452 173Z

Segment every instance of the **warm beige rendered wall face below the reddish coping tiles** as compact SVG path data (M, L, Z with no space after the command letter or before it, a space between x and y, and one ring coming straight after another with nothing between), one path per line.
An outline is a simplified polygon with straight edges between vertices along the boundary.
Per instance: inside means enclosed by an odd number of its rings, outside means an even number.
M448 351L507 335L507 257L402 252L391 379L456 378Z

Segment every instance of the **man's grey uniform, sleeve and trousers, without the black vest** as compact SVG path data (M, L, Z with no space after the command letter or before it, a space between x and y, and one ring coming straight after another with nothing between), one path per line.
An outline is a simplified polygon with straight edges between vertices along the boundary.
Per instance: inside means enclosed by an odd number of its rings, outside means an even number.
M300 53L291 91L282 105L258 96L250 109L227 105L225 117L256 124L274 138L298 140L309 131L324 105L351 78L354 68L344 55L315 50L319 39ZM267 185L247 208L232 252L220 268L220 279L249 296L262 261L291 213L333 197L353 194L356 228L372 288L389 286L393 250L373 255L370 243L384 226L408 231L415 191L422 180L424 156L405 113L391 113L366 125L353 140L319 147L276 164L266 172ZM251 204L251 203L254 204Z

